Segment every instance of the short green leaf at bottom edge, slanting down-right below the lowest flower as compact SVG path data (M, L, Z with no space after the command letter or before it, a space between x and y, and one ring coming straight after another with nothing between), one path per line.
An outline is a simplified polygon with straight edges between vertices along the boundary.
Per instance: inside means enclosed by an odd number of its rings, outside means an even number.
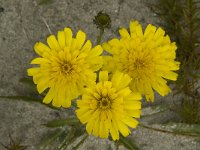
M139 150L137 145L133 142L133 140L128 139L120 135L119 142L122 143L129 150Z

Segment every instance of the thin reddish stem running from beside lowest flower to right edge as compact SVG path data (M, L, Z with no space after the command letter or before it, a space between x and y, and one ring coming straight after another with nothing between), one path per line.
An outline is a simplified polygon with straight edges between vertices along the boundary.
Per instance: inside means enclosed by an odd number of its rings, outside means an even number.
M173 132L173 131L168 131L168 130L153 128L153 127L141 124L141 123L139 124L139 126L142 127L142 128L153 130L153 131L162 132L162 133L169 133L169 134L173 134L173 135L183 135L183 136L190 136L190 137L200 137L200 135L186 134L186 133L177 133L177 132Z

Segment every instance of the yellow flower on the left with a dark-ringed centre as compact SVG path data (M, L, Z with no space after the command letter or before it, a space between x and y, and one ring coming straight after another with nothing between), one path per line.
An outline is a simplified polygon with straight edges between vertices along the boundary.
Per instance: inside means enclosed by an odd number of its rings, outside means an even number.
M39 64L39 67L28 69L28 75L33 76L39 93L49 88L44 103L52 101L55 107L70 107L71 100L77 98L85 86L95 84L95 71L102 67L103 50L100 45L92 48L91 42L85 43L85 39L84 32L78 31L73 38L71 29L65 28L58 32L57 39L54 35L47 38L48 46L41 42L35 44L35 52L40 57L31 64Z

